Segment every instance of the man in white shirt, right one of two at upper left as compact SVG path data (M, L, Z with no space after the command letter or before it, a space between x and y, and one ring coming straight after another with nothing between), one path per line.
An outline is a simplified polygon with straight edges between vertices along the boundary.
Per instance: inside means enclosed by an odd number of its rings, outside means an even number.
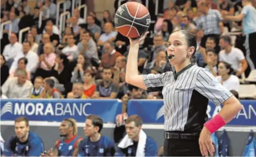
M39 58L36 53L30 50L30 48L31 48L30 42L27 42L27 41L23 42L23 51L18 52L16 57L14 58L14 62L9 71L10 73L16 70L18 60L20 60L20 58L22 57L27 58L26 70L31 73L35 72L36 67L39 63Z

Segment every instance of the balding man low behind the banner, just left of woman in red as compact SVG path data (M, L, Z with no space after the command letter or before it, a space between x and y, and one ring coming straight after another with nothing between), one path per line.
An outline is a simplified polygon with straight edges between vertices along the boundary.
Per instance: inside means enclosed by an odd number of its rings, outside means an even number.
M83 84L82 83L74 83L72 92L68 93L68 99L86 99L87 96L83 94Z

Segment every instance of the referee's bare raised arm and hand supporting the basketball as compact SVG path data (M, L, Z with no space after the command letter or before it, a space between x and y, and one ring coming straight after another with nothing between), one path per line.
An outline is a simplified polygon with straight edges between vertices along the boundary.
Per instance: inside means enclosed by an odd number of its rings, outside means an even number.
M144 41L148 32L136 40L130 40L130 50L128 54L127 66L126 66L126 75L125 81L134 86L140 87L141 89L146 90L147 87L143 81L143 75L139 75L138 71L138 51L139 44Z

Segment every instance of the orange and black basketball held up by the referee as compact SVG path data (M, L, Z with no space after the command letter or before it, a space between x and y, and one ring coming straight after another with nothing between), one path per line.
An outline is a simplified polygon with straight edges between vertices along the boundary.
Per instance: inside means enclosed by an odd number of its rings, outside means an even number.
M151 23L148 9L138 2L121 5L115 14L117 31L129 38L137 38L147 32Z

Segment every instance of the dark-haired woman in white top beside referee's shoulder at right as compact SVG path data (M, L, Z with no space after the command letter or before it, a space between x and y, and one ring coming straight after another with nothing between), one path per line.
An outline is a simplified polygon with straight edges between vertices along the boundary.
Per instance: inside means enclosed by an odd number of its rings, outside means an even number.
M231 65L226 62L220 62L218 65L218 74L219 76L216 76L217 80L223 84L224 87L226 87L227 90L234 90L238 92L239 89L239 79L237 76L232 75L233 69L231 68Z

